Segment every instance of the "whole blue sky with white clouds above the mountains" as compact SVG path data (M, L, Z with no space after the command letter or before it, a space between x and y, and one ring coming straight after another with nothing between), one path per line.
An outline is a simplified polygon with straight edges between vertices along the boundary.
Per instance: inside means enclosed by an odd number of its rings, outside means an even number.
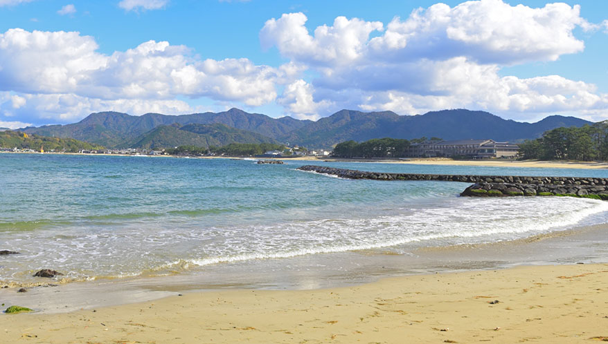
M608 120L608 1L0 0L0 127L468 108Z

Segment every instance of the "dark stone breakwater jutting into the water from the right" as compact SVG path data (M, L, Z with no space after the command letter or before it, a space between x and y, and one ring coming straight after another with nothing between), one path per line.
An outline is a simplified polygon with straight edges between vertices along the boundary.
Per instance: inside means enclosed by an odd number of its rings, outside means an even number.
M442 175L422 173L383 173L328 166L305 165L301 171L335 175L346 179L368 180L436 180L442 182L470 182L461 195L501 197L518 195L567 195L608 200L608 178L533 177L521 175Z

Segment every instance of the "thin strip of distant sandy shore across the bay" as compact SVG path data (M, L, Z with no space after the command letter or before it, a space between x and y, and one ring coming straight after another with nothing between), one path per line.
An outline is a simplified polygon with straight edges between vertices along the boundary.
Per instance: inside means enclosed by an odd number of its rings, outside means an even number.
M0 152L7 154L41 154L27 152ZM81 156L119 156L119 157L178 157L179 155L129 155L129 154L91 154L91 153L42 153L42 155L81 155ZM256 160L285 160L285 161L316 161L316 162L361 162L375 164L419 164L419 165L451 165L451 166L490 166L490 167L525 167L538 169L608 169L608 162L582 162L566 160L453 160L447 157L420 157L407 160L374 160L374 159L348 159L340 157L242 157L242 156L197 156L191 159L256 159Z

